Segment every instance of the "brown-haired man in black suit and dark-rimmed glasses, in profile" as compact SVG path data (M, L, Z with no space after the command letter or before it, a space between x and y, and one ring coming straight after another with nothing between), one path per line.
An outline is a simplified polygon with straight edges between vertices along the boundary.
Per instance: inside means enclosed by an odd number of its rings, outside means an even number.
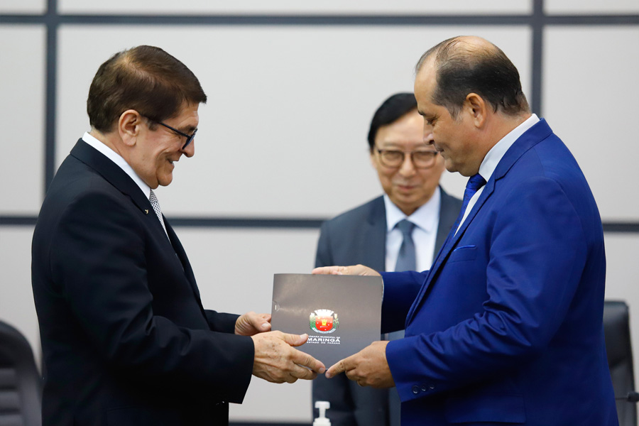
M204 310L153 189L195 153L193 73L138 46L99 67L91 131L60 165L33 234L43 425L224 425L251 373L293 383L324 366L271 316ZM308 368L305 368L308 367Z

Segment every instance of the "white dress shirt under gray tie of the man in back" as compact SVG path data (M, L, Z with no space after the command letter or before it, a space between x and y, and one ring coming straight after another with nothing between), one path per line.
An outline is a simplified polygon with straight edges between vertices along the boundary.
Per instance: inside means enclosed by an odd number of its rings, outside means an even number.
M399 249L404 237L402 231L395 228L403 219L408 219L415 224L413 229L413 241L415 242L415 267L417 271L426 271L432 265L435 254L435 239L437 238L437 226L439 225L439 204L442 195L439 187L435 189L432 197L410 216L406 216L397 207L388 195L384 195L386 206L386 271L395 271L395 263L399 255Z

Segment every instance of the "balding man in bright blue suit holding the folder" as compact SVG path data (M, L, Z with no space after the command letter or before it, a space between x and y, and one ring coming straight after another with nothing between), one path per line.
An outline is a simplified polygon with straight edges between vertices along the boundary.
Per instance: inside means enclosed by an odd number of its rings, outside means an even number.
M382 327L405 326L405 338L373 342L326 376L396 386L405 425L618 425L603 231L579 165L486 40L428 50L415 97L425 140L470 177L463 213L430 271L381 274Z

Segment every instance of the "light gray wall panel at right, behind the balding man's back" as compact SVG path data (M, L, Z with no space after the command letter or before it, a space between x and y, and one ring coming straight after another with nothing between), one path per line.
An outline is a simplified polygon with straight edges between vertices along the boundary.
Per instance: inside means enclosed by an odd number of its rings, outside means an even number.
M545 31L544 111L604 220L639 220L639 27Z

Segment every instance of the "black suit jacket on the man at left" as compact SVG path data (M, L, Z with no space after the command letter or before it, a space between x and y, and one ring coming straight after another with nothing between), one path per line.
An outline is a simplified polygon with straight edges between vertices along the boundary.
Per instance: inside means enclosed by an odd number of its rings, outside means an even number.
M220 425L243 400L253 342L202 308L165 225L170 240L135 182L77 142L33 234L43 425Z

